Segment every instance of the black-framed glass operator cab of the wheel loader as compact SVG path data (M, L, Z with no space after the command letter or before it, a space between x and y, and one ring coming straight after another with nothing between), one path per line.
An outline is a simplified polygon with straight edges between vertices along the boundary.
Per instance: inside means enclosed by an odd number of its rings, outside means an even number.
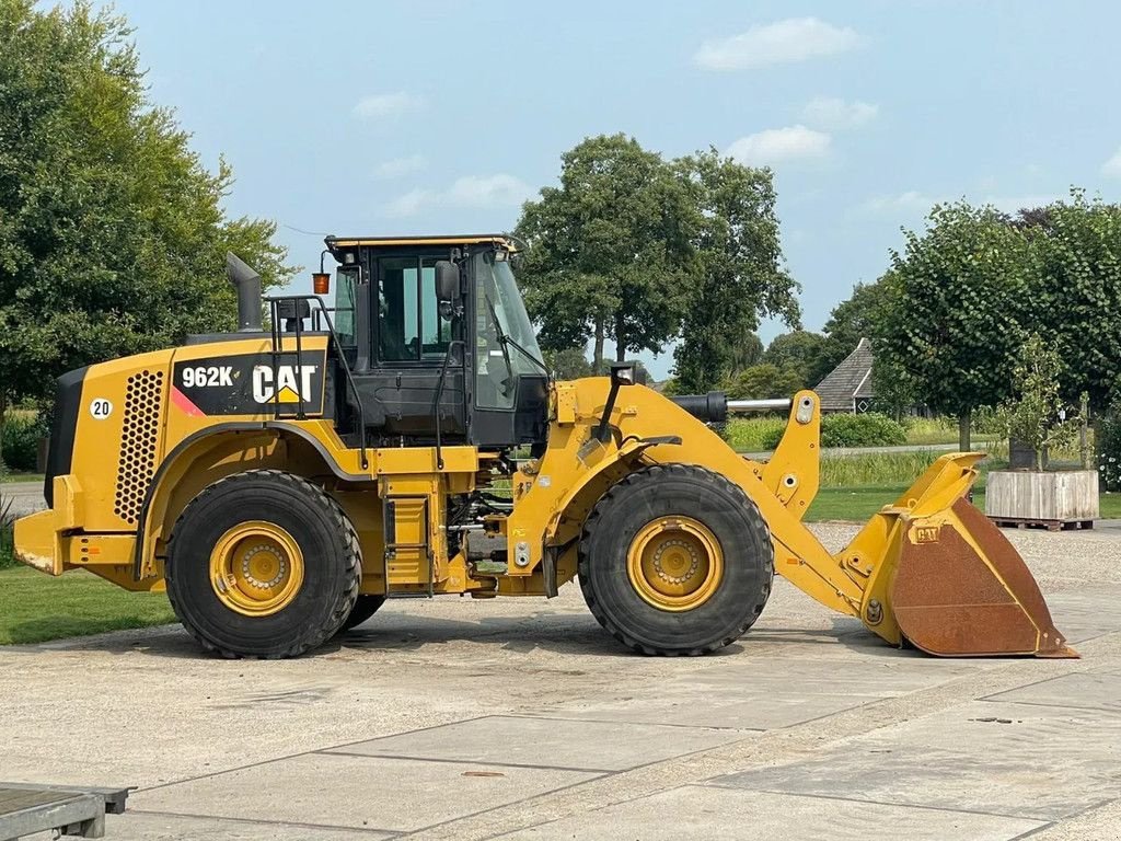
M363 415L381 445L545 441L548 377L511 240L327 237L326 246L339 262L335 332L356 391L336 388L336 417Z

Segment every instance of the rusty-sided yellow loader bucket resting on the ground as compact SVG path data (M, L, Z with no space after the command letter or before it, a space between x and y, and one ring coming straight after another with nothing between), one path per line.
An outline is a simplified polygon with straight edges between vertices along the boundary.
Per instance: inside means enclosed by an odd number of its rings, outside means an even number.
M965 499L982 458L942 456L853 540L842 561L850 569L881 556L862 619L889 641L939 656L1077 657L1019 553Z

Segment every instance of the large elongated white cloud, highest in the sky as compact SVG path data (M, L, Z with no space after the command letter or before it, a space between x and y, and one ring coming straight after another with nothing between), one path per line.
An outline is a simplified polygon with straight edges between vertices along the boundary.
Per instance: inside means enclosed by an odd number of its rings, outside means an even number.
M859 44L855 29L818 18L787 18L753 26L731 38L705 41L693 61L705 70L751 70L836 55Z

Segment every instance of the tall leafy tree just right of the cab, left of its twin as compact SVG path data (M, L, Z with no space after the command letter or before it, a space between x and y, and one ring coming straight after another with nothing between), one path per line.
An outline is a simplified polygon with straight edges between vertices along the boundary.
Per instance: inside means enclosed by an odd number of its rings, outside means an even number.
M564 154L560 186L527 202L517 233L529 243L519 277L540 342L563 350L593 341L603 367L660 351L680 324L691 209L661 156L624 135L586 138Z

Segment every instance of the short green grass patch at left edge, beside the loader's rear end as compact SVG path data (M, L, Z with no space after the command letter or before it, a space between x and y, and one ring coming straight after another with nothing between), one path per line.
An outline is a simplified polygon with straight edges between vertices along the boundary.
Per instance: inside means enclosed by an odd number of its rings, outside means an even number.
M174 621L163 593L130 593L81 571L58 579L24 567L0 571L0 645Z

